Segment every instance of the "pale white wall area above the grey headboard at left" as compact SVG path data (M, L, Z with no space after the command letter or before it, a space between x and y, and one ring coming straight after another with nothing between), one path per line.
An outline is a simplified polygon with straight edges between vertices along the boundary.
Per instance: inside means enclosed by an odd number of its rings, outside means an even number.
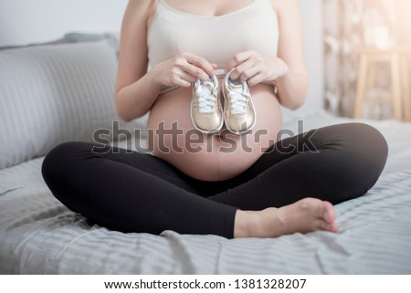
M0 47L119 31L127 0L0 0Z

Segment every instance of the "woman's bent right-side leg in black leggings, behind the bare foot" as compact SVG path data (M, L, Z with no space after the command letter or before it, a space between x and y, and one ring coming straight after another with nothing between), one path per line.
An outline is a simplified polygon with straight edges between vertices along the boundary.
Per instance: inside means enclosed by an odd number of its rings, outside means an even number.
M212 199L243 209L279 207L304 197L338 204L374 186L387 152L383 135L363 123L308 131L278 141Z

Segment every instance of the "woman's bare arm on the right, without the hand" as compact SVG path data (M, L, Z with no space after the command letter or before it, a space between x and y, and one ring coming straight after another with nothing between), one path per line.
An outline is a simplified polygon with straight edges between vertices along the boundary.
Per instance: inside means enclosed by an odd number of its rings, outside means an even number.
M308 87L300 7L297 0L271 0L271 3L279 17L278 57L289 68L273 83L277 88L279 102L295 110L304 103Z

